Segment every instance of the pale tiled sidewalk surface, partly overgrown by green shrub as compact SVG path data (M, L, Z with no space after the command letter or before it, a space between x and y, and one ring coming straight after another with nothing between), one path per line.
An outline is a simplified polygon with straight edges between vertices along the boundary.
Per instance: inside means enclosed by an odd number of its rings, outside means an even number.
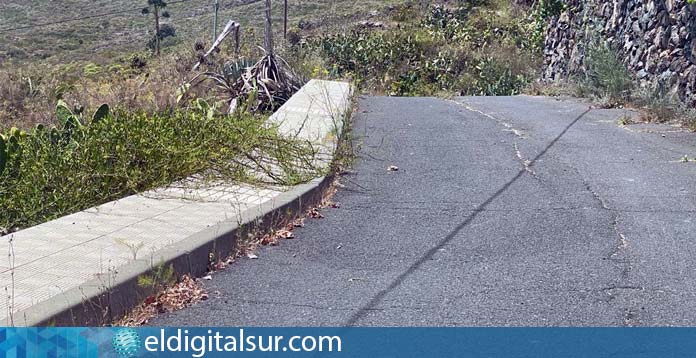
M350 107L346 83L310 81L270 119L283 133L321 147L330 161L336 123ZM338 121L338 122L337 122ZM244 184L170 187L106 203L0 237L0 321L95 278L108 279L155 253L242 213L290 188ZM12 254L10 255L10 252Z

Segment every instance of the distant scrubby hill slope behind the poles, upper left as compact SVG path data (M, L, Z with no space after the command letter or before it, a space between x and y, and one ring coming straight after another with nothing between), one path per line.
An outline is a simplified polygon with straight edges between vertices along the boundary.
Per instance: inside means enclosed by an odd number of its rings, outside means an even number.
M243 31L263 26L263 1L219 0L219 29L229 19ZM163 19L176 29L179 43L212 37L213 0L171 0ZM402 1L290 0L290 26L301 21L340 26L387 3ZM83 60L105 62L145 49L154 34L153 19L141 9L147 0L4 0L0 1L0 66ZM282 27L283 1L275 0L276 30ZM107 15L108 14L108 15ZM52 25L46 25L53 23ZM185 41L190 43L190 41Z

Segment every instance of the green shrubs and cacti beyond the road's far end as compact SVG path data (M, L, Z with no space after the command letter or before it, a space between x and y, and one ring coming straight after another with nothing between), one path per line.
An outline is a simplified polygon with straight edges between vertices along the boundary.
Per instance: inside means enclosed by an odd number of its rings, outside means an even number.
M335 77L395 96L513 95L537 76L529 19L486 1L432 5L398 29L354 30L309 41ZM414 5L396 9L412 15Z

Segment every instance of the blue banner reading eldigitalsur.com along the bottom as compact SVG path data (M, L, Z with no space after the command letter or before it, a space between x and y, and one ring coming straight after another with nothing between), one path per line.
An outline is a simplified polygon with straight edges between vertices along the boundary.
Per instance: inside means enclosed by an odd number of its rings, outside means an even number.
M0 328L0 357L694 357L695 328Z

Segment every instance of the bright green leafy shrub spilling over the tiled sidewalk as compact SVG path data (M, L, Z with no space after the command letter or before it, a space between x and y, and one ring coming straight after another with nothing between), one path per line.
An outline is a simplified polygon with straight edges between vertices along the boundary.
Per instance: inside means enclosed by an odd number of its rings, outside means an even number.
M0 227L41 223L196 173L251 180L250 168L265 169L252 165L260 157L280 164L273 177L280 183L316 174L296 166L308 162L303 158L311 149L282 139L261 116L109 114L101 107L85 122L63 104L58 112L63 119L57 127L12 129L2 136Z

